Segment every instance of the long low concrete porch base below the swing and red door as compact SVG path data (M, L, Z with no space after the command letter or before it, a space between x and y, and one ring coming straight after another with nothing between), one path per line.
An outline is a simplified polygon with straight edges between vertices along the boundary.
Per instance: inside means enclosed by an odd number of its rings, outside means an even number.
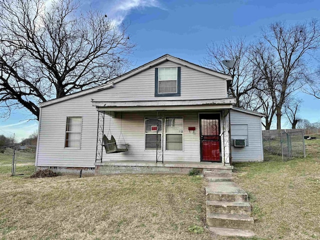
M155 162L155 161L130 161L116 160L96 162L94 174L109 175L121 173L188 173L192 168L199 169L202 173L204 169L219 172L231 172L233 166L222 162Z

